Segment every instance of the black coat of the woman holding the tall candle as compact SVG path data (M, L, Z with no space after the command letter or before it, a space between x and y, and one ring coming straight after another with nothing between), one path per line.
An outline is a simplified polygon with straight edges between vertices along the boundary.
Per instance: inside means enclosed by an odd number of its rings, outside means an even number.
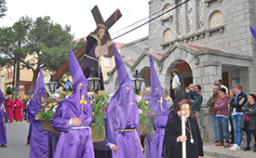
M190 133L186 130L186 155L187 158L198 158L198 156L204 156L203 142L200 136L200 131L195 119L189 117L190 125L192 128L192 135L195 142L190 142ZM186 126L189 128L188 123ZM182 142L177 142L177 138L182 135L182 121L176 114L173 118L168 120L166 126L164 146L170 150L168 158L182 158Z

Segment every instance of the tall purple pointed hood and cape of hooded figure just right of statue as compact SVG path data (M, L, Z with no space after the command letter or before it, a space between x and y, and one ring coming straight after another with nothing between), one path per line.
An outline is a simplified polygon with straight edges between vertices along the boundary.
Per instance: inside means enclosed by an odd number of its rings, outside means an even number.
M119 87L115 91L113 97L110 99L108 110L104 118L106 119L108 113L112 111L115 106L117 106L118 118L121 122L120 125L125 129L128 125L139 124L138 105L136 103L132 82L128 75L125 64L121 59L115 45L113 46L115 55L115 67L119 79Z

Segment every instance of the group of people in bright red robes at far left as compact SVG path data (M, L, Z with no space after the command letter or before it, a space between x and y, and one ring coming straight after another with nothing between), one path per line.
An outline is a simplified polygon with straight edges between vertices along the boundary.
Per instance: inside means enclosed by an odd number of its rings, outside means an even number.
M4 101L7 107L10 123L12 123L13 120L21 122L26 113L26 106L30 102L30 98L28 97L27 99L20 99L20 96L17 96L13 100L11 96L7 96Z

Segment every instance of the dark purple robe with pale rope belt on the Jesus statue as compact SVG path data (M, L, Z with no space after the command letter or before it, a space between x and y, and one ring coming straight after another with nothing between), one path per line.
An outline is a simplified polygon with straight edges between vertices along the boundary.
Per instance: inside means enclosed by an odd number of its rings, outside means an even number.
M101 45L103 45L103 42L101 41ZM87 37L87 49L85 54L87 56L84 57L83 62L81 64L82 71L84 72L85 76L88 78L90 75L91 68L94 69L94 72L97 77L99 77L100 74L100 90L104 90L104 80L101 72L100 62L99 58L95 56L95 47L98 46L98 40L91 36L91 34ZM89 56L89 58L88 58Z

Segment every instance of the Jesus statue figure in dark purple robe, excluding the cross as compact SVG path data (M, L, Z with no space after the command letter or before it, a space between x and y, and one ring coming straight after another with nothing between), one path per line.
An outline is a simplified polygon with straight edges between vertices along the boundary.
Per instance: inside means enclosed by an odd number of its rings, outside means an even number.
M111 58L113 51L110 51L110 46L113 45L108 34L106 34L107 27L103 24L97 24L97 28L93 33L87 37L87 49L85 58L81 64L82 71L88 78L91 68L94 68L95 75L101 79L99 90L104 90L104 81L101 72L100 60L101 57ZM107 40L105 40L105 38ZM105 44L103 41L107 41Z

